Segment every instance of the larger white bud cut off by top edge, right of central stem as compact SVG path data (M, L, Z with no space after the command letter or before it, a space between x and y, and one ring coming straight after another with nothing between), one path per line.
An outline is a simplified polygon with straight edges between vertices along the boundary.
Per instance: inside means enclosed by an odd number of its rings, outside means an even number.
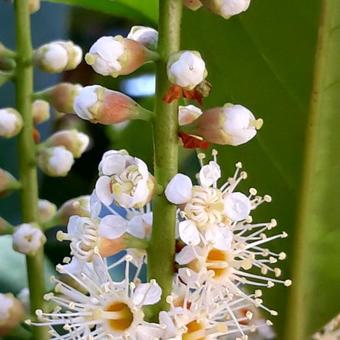
M225 19L246 11L250 5L250 0L201 0L201 2L213 13Z

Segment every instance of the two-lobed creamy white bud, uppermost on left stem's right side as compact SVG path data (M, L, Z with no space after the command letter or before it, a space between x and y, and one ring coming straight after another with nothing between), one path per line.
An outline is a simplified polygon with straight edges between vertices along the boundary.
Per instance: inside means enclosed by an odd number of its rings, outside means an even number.
M82 60L81 48L72 41L52 41L34 54L36 65L45 72L59 73L75 69Z

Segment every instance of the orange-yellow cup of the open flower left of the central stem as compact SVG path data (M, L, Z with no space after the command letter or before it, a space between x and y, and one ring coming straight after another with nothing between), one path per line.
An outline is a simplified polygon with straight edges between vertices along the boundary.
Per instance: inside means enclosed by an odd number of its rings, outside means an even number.
M133 313L130 307L120 301L114 301L106 306L104 318L108 320L108 325L114 332L124 332L133 322Z

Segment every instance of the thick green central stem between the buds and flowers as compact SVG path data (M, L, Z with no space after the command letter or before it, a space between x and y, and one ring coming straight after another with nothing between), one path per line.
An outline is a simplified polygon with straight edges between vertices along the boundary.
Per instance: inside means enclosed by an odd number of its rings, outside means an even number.
M166 74L169 55L180 48L182 0L159 2L159 54L156 74L156 105L154 123L155 177L166 187L178 168L178 104L163 101L170 84ZM167 310L174 275L176 207L164 194L156 197L153 210L153 229L148 248L148 276L161 286L161 301L149 309L150 319L156 320L161 310Z

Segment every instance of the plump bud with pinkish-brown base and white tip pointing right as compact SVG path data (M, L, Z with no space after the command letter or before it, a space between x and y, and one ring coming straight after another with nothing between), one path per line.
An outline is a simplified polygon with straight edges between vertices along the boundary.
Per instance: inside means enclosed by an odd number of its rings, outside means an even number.
M197 119L197 133L210 143L236 146L255 137L262 124L244 106L226 104L204 112Z

